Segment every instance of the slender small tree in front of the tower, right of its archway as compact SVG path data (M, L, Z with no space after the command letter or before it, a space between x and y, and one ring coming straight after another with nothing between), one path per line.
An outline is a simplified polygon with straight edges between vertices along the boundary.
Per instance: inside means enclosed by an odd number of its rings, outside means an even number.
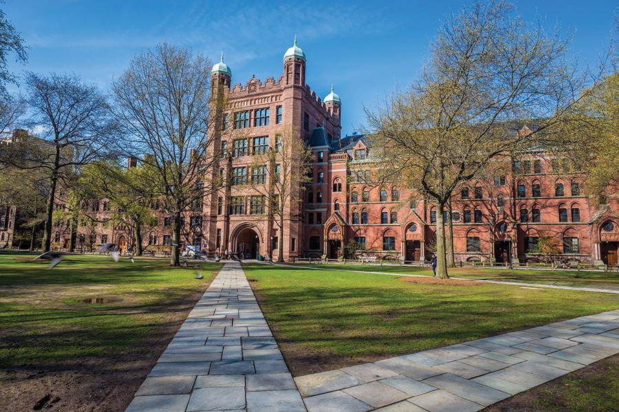
M314 157L294 128L282 128L275 136L274 146L263 153L254 153L248 186L264 199L268 218L279 229L277 260L283 262L285 216L303 199L305 183L312 181L308 172ZM259 170L268 170L263 179ZM251 207L251 205L250 205Z

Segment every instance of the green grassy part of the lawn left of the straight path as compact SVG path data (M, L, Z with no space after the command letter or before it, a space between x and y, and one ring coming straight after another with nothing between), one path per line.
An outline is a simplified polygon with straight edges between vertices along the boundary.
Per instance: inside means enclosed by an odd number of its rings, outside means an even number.
M141 345L204 290L219 270L170 268L163 260L113 262L68 255L56 268L32 255L0 254L0 368L45 370L85 358L148 350ZM99 297L104 303L87 303ZM188 308L193 306L193 302Z

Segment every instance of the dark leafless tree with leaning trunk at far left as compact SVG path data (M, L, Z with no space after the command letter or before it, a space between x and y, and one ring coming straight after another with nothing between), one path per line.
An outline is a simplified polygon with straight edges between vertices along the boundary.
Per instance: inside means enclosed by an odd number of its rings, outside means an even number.
M39 137L16 139L4 146L2 157L21 170L45 173L43 250L49 251L58 183L69 185L81 166L105 155L116 128L105 97L77 76L28 73L26 84L30 126L40 130Z

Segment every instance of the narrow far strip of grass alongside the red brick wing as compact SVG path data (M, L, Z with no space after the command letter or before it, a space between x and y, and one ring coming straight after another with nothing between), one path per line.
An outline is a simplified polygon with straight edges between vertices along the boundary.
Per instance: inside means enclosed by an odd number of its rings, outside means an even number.
M431 276L430 268L415 266L381 266L361 264L298 264L316 268L331 268L344 271L387 272L402 275ZM557 286L605 288L619 290L619 273L604 273L601 271L552 271L550 269L513 269L508 268L450 268L451 277L466 277L468 279L492 279L506 282L523 282L552 284Z

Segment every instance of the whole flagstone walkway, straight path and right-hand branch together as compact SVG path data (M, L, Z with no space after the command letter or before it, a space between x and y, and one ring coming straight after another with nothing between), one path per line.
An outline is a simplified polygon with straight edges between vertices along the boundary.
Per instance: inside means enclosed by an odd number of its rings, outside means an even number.
M232 262L126 412L472 412L618 353L613 310L293 379Z

